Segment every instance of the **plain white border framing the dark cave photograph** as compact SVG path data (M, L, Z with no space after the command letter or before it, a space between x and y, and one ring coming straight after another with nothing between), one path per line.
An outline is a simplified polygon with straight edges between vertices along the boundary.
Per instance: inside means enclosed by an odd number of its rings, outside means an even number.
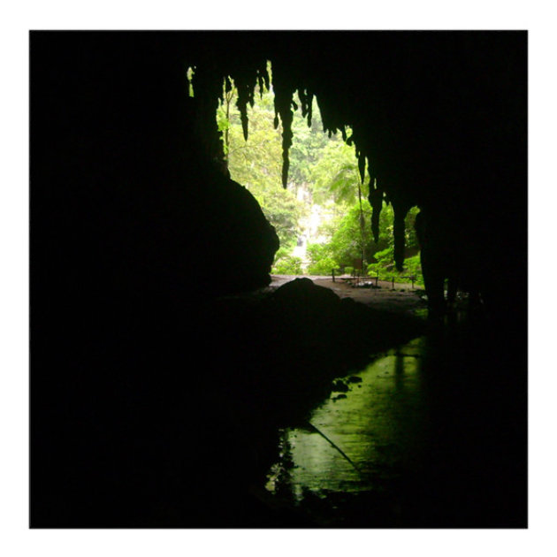
M555 554L554 14L546 2L32 2L3 8L2 486L5 555ZM528 29L530 33L530 530L27 530L29 29ZM547 317L544 317L547 316Z

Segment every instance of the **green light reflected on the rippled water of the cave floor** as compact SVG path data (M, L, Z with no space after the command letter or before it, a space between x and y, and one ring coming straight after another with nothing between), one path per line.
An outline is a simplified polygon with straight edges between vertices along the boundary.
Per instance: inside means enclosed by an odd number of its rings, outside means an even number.
M426 435L423 338L378 358L316 408L304 427L282 431L266 488L300 501L312 492L361 492L419 466ZM362 381L358 382L357 378Z

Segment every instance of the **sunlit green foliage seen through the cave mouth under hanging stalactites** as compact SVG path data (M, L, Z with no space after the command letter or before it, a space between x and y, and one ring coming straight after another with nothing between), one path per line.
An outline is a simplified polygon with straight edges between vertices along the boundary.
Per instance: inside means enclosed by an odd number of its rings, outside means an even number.
M267 69L272 75L271 63ZM217 126L231 178L254 195L279 235L271 274L366 271L372 244L370 177L366 174L361 183L354 146L340 134L324 133L315 97L310 116L302 116L300 99L294 97L294 138L283 188L283 130L276 118L272 81L269 88L256 86L254 104L248 105L247 139L237 101L238 91L229 78L217 109Z

